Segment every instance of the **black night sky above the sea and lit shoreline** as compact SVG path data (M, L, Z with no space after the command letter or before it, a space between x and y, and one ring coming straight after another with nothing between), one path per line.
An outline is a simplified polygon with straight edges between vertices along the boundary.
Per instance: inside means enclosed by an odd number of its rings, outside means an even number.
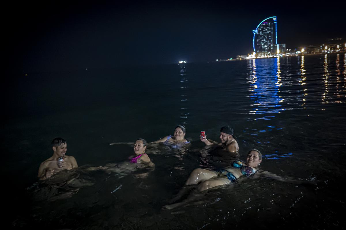
M252 30L271 16L287 48L346 38L345 3L54 2L3 8L9 12L3 47L11 72L235 58L252 52Z

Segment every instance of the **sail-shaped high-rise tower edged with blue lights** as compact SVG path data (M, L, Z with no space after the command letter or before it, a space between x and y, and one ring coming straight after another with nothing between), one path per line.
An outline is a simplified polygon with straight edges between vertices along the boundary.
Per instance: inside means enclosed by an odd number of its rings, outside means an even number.
M277 23L276 16L269 17L261 21L254 33L253 47L258 56L266 56L279 53L277 44ZM276 47L276 49L273 49Z

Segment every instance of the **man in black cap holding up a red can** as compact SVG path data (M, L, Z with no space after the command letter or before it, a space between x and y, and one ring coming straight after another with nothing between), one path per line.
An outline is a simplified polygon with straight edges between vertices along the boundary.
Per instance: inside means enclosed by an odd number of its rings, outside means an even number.
M202 142L206 143L206 145L216 144L216 142L214 141L209 141L207 139L207 135L206 135L206 138L202 138L202 136L200 136L199 138ZM223 150L231 152L231 153L239 151L238 143L236 139L234 139L233 128L229 126L222 127L220 130L220 140L221 142L218 143L217 145L222 146Z

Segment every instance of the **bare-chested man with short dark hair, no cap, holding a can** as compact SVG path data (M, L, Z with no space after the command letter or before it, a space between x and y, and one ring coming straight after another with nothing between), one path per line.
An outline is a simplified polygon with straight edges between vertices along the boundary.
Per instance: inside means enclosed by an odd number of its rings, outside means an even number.
M37 177L40 180L51 178L52 175L61 170L71 170L78 167L73 156L67 156L67 143L63 138L57 137L51 143L53 156L41 163Z

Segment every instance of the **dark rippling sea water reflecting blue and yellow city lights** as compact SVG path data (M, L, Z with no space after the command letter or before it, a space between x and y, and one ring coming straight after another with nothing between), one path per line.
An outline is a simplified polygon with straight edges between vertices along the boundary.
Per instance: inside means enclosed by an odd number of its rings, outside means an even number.
M2 92L4 223L25 229L343 229L345 56L11 76ZM131 145L111 142L155 141L178 124L186 126L191 146L149 146L156 167L146 177L79 170L84 186L53 201L49 196L63 191L44 197L48 185L35 183L55 137L67 140L67 155L79 166L100 166L133 153ZM204 130L218 141L227 124L240 159L257 148L261 169L316 184L245 178L162 210L193 169L227 163L227 155L209 151L198 138Z

